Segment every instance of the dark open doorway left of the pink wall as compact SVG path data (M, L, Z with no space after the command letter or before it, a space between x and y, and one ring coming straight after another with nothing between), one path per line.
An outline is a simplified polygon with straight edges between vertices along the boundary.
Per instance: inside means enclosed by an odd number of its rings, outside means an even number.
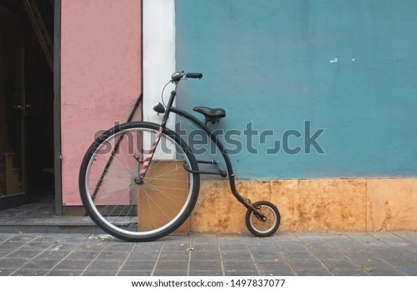
M29 2L54 37L53 0L0 0L0 209L55 198L54 74Z

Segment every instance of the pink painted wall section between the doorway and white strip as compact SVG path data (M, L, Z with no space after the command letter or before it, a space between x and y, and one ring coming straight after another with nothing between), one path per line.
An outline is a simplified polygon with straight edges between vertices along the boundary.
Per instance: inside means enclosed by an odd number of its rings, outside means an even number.
M62 1L63 205L81 205L79 167L95 133L126 121L140 95L140 2Z

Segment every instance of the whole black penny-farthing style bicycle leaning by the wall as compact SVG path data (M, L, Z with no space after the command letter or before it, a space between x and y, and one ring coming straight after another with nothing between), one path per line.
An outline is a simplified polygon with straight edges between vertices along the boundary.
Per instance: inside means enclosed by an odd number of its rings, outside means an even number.
M167 105L162 102L154 107L162 115L161 124L123 123L106 130L91 144L79 171L79 190L86 214L102 230L119 239L160 239L177 230L190 216L197 203L201 174L217 174L223 178L229 175L232 194L247 209L247 229L256 237L270 237L281 222L278 208L270 201L252 203L249 198L240 196L229 154L220 141L222 134L208 128L209 121L216 123L226 117L226 112L220 108L195 107L195 112L204 115L203 120L174 107L177 85L188 78L202 78L202 74L183 71L172 74L167 85L174 84L174 89ZM208 161L210 157L196 160L193 146L188 146L179 133L167 128L171 114L190 121L208 135L220 151L226 169L220 169L218 161ZM175 151L165 151L172 148ZM113 161L116 164L111 166ZM217 170L198 164L215 164ZM101 188L104 189L99 190ZM218 210L215 204L212 207Z

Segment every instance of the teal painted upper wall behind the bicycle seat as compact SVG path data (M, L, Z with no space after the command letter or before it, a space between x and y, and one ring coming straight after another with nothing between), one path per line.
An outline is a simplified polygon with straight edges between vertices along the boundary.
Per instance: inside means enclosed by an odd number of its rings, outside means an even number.
M238 178L415 176L416 11L415 0L177 0L177 68L204 74L177 106L224 108L215 129L274 131L257 154L231 156ZM325 153L288 131L304 135L305 120L311 135L324 129ZM286 131L300 153L284 152Z

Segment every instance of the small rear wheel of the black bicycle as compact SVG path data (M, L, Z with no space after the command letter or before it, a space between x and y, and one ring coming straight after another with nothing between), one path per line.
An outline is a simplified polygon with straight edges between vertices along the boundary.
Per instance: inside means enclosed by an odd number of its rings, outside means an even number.
M249 208L245 216L247 229L256 237L270 237L278 230L279 223L281 222L281 215L277 207L269 201L258 201L254 203L254 207L266 217L266 221L262 221Z

